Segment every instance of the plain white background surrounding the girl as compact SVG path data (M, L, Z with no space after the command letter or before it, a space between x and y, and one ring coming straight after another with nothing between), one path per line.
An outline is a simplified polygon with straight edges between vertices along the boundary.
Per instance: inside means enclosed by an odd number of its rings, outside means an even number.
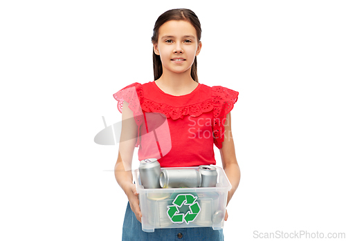
M93 137L113 93L153 80L171 8L201 21L200 83L239 91L225 240L346 232L345 1L202 2L1 1L1 240L120 240L118 150Z

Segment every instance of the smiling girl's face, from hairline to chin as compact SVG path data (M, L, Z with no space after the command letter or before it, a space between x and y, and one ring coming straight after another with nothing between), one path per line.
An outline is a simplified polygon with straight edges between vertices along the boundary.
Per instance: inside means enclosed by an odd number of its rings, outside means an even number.
M159 28L154 52L160 55L163 73L184 73L190 71L201 47L202 43L198 42L196 29L191 23L171 20Z

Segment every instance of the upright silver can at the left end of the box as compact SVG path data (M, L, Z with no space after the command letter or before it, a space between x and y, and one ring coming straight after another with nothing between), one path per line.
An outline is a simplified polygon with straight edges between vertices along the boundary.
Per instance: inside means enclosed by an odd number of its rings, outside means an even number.
M160 163L156 158L141 160L139 163L140 182L145 189L160 189Z

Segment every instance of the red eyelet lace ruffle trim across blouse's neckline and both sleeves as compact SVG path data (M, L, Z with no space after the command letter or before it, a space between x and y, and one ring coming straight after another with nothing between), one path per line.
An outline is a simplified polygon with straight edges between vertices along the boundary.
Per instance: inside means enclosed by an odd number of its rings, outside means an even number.
M131 88L132 87L132 88ZM146 99L143 95L143 87L139 83L130 84L122 88L113 97L118 101L118 110L122 113L122 104L124 100L129 103L129 108L134 112L134 119L138 125L138 138L136 147L140 144L140 125L143 124L143 113L161 113L167 118L183 119L185 115L198 117L203 113L212 111L212 133L214 136L214 144L217 148L222 148L224 142L224 124L227 114L233 109L237 102L239 93L222 86L211 87L211 97L204 102L192 104L189 106L175 107L163 103L154 102Z

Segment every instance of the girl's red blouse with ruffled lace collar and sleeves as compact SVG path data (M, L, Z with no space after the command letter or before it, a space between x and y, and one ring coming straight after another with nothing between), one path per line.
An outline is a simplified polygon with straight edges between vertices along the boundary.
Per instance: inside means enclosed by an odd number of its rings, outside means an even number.
M138 126L138 159L157 158L161 167L216 164L213 144L224 142L226 115L238 92L199 84L188 95L164 93L155 81L134 83L113 97L129 103ZM226 123L227 124L227 123Z

